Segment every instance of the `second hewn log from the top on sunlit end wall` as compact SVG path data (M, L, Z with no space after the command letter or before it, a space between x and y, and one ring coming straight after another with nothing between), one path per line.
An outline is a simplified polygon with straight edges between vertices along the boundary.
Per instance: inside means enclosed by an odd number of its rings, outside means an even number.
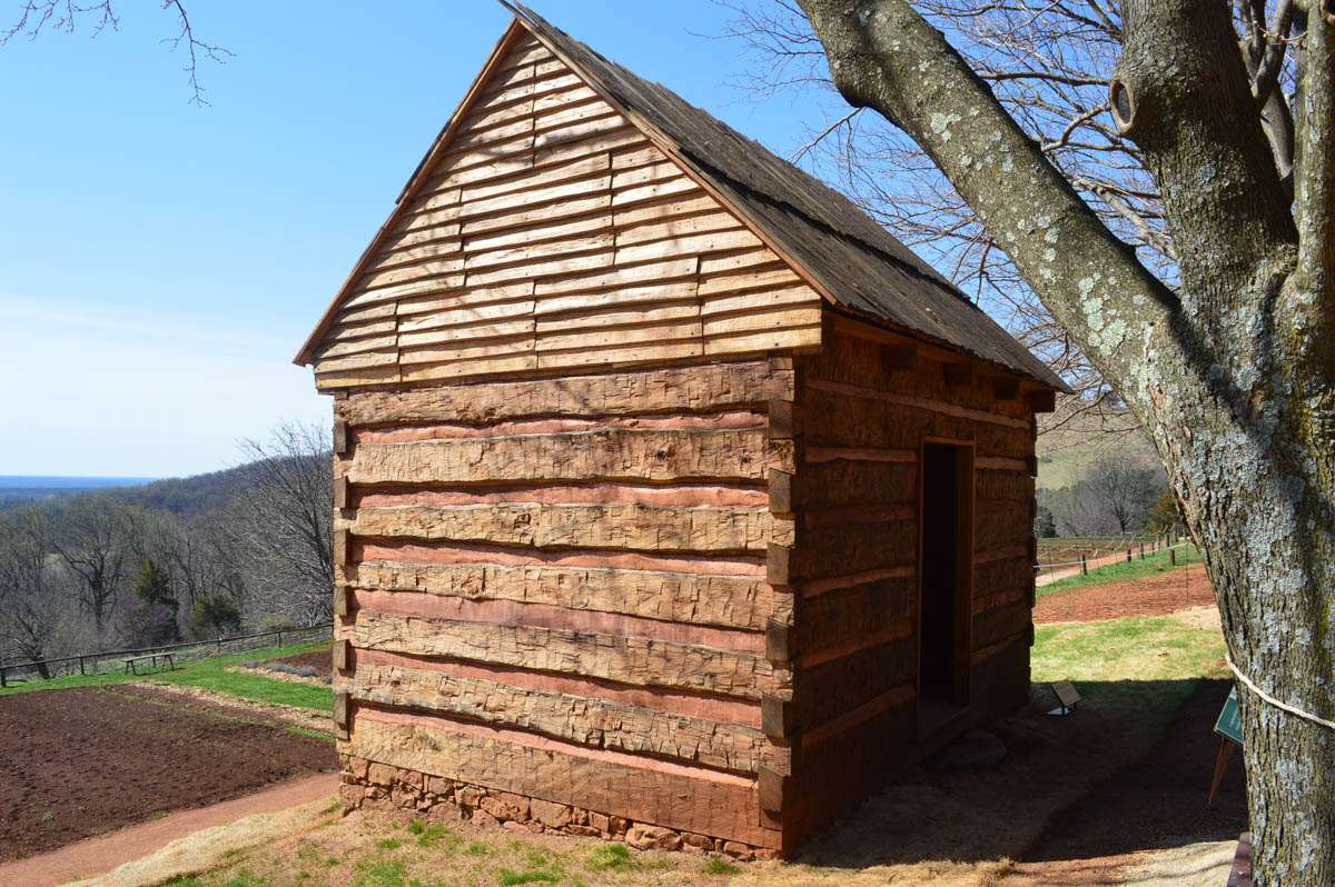
M348 479L374 483L764 479L794 470L792 441L764 429L633 431L360 444Z

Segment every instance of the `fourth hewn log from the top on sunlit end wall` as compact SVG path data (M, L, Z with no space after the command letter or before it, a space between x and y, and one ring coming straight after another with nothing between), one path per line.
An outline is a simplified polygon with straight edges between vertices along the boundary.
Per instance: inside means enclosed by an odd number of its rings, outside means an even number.
M764 628L770 616L788 618L793 608L792 595L776 592L760 578L647 570L364 562L356 583L752 630Z

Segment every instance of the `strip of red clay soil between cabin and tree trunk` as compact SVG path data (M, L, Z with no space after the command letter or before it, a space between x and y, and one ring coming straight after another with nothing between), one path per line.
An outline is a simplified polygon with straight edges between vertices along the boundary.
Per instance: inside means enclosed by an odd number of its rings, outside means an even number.
M1053 591L1039 598L1035 624L1163 616L1187 607L1214 607L1215 592L1202 564L1144 579Z

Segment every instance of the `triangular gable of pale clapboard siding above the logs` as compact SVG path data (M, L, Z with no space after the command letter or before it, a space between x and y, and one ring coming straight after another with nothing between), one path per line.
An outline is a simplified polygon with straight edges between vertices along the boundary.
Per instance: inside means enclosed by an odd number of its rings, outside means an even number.
M322 391L820 345L820 295L543 52L493 73L360 265Z

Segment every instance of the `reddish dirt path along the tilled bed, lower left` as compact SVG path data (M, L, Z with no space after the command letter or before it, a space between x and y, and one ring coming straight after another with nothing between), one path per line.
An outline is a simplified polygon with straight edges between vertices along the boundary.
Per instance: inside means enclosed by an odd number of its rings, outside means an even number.
M251 814L287 810L338 792L338 774L316 774L224 800L211 807L183 810L162 819L129 826L40 856L0 866L0 884L5 887L52 887L77 878L91 878L152 854L178 838L200 828L222 826Z

